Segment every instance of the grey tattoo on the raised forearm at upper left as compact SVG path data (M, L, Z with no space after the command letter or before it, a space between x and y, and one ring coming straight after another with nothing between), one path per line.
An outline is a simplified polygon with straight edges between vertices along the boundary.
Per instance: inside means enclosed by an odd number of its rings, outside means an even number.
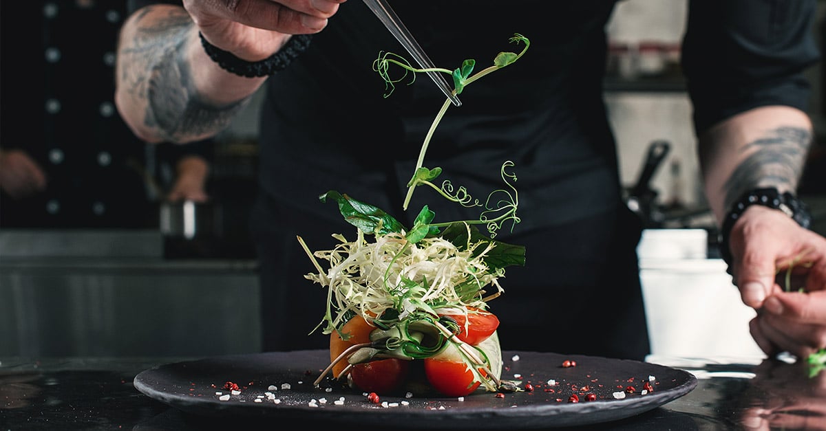
M143 17L145 13L138 21ZM133 66L122 69L121 80L134 97L146 100L145 125L164 139L187 140L222 130L249 102L250 97L245 97L216 106L198 94L184 58L192 20L183 9L169 12L151 26L138 27L135 39L121 50L125 62Z

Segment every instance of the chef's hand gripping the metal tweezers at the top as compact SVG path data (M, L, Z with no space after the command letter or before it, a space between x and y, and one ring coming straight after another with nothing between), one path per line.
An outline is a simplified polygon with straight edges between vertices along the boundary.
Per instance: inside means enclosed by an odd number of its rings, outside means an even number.
M290 35L317 33L346 0L183 0L192 21L212 45L240 59L259 61Z

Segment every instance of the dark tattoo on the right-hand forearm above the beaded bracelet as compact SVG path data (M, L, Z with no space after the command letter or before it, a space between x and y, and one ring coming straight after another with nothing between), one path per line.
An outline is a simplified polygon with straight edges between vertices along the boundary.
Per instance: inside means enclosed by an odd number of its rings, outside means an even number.
M741 151L754 151L725 182L725 207L755 187L795 190L803 170L812 135L802 127L778 127L748 143ZM755 151L756 150L756 151Z

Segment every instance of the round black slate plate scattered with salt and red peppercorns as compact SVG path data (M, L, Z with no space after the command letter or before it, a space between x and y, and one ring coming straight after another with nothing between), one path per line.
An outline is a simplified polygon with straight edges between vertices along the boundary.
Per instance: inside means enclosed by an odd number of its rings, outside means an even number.
M392 428L539 429L599 424L653 410L690 392L696 377L648 362L558 353L504 352L502 378L521 381L533 391L476 391L463 399L415 394L381 397L373 404L358 391L313 381L329 363L326 350L256 353L176 362L140 372L135 388L155 400L191 414L313 419L330 424ZM565 360L576 367L562 367ZM645 381L653 391L641 393ZM556 385L548 385L553 379ZM225 382L240 386L231 395ZM282 386L288 384L290 387ZM269 390L269 386L276 386ZM587 388L585 388L587 386ZM616 399L615 392L633 386ZM266 392L274 399L268 399ZM230 395L229 400L220 400ZM568 402L576 393L580 401ZM586 394L596 395L587 401ZM258 400L258 401L256 401ZM339 401L343 400L343 402ZM336 401L339 401L338 403Z

